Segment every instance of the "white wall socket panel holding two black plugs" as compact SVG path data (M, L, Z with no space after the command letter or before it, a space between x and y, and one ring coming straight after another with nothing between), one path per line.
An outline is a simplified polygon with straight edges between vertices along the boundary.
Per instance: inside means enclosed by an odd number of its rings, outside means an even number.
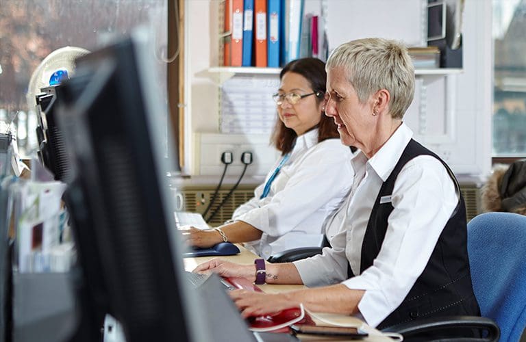
M253 134L217 134L200 133L199 139L199 174L220 176L225 164L221 161L224 152L232 153L232 163L227 168L227 175L238 176L245 164L241 161L242 153L252 153L252 163L245 174L264 176L279 158L279 152L270 144L268 135Z

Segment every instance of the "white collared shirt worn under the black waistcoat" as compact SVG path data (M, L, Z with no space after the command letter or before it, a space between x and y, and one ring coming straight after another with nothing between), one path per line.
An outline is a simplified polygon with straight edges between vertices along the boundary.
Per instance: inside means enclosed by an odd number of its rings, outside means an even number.
M358 309L371 326L381 323L408 295L458 204L455 185L438 159L421 155L406 163L391 198L384 199L392 201L395 209L389 215L380 252L373 265L360 274L362 242L373 205L411 137L409 127L401 124L371 159L363 153L353 157L355 180L351 194L345 209L340 209L327 228L333 248L295 262L308 286L342 282L347 279L349 263L357 276L342 284L365 290Z

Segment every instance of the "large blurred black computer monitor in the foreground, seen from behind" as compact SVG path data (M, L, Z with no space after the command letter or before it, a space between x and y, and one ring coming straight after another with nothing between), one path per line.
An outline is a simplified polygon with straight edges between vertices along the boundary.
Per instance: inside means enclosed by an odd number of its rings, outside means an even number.
M65 83L67 92L77 75L91 75L60 109L75 180L66 206L82 269L84 331L99 331L101 315L110 313L128 342L212 341L183 279L166 177L175 170L164 153L166 107L147 42L138 31L80 57Z

